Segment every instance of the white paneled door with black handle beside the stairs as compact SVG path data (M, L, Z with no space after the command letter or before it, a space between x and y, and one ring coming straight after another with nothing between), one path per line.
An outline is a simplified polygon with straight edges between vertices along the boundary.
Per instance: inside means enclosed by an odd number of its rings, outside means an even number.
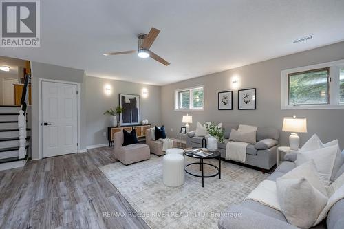
M77 152L76 89L75 84L42 81L43 157Z

